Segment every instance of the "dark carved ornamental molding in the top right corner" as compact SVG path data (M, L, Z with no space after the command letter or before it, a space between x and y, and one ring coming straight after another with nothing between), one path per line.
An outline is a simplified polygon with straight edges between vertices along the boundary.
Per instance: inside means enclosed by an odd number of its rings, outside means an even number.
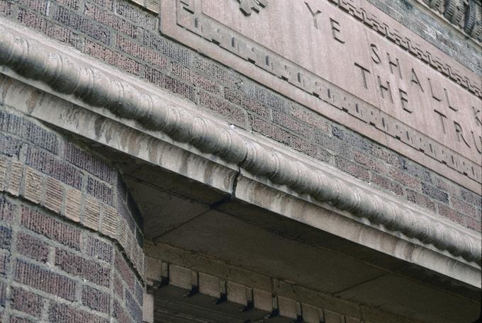
M480 0L417 0L437 16L452 23L478 44L482 42L482 3Z

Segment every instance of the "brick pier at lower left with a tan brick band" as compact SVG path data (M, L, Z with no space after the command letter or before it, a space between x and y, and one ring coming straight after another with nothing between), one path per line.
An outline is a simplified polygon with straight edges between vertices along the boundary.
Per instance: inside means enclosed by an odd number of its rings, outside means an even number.
M142 322L142 217L120 175L3 106L0 146L0 322Z

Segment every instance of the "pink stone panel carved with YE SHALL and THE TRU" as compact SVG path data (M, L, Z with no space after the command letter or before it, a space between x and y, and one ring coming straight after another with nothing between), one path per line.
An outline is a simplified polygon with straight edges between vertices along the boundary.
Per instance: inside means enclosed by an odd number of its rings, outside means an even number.
M329 118L346 124L345 113L374 140L482 181L479 77L364 0L167 0L161 22L163 33L254 79L269 73L269 86Z

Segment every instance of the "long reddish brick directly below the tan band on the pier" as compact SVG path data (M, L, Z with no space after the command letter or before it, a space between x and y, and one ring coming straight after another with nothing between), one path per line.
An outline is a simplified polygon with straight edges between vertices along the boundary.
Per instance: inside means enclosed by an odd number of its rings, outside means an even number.
M22 207L21 225L47 238L79 250L80 231L40 212Z

